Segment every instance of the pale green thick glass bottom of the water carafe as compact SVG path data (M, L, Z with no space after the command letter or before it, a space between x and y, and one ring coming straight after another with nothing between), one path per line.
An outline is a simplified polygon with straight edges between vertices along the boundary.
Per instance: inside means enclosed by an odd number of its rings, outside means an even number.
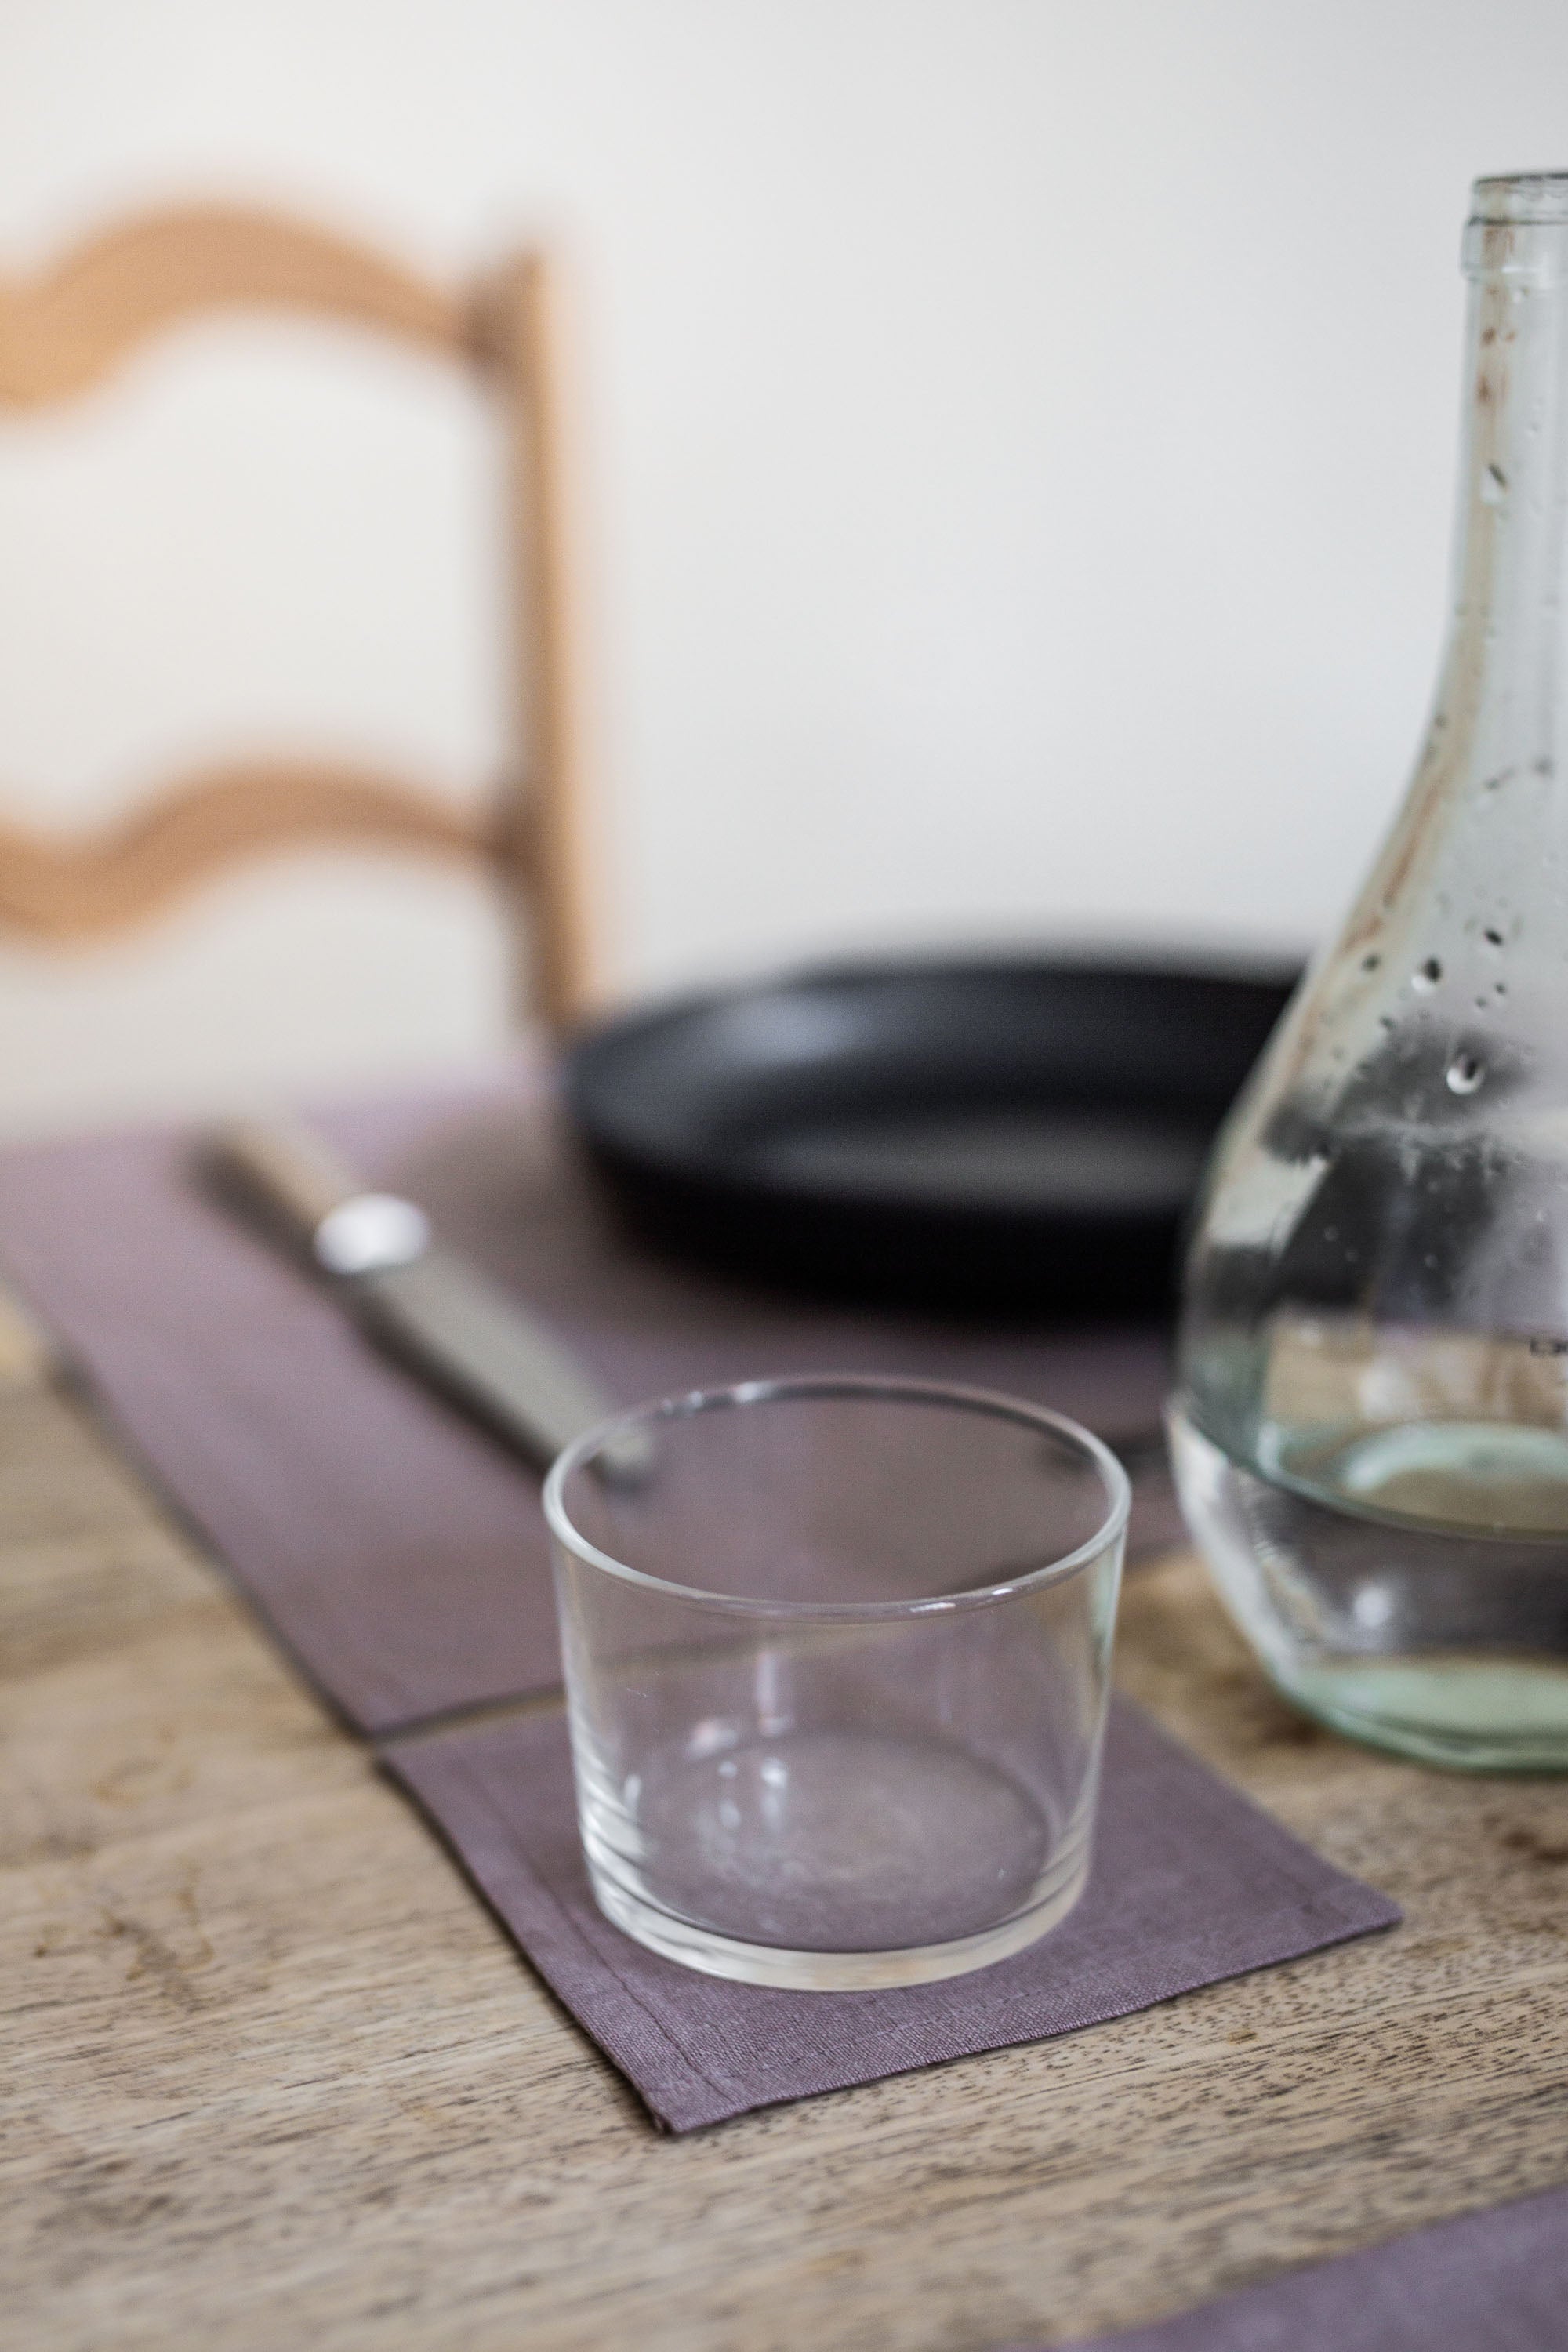
M1509 1658L1352 1658L1272 1679L1368 1748L1450 1771L1568 1771L1568 1675Z

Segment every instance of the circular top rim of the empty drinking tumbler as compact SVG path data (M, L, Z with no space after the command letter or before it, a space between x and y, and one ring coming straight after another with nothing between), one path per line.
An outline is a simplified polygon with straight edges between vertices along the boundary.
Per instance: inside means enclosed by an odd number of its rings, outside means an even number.
M950 1404L957 1411L983 1414L997 1421L1013 1421L1023 1428L1048 1432L1051 1437L1065 1437L1067 1444L1077 1446L1093 1468L1100 1472L1100 1484L1105 1489L1105 1517L1084 1543L1063 1552L1060 1559L1046 1559L1039 1569L1030 1569L1025 1576L1006 1576L992 1585L971 1585L964 1592L931 1592L919 1599L907 1602L783 1602L766 1599L757 1592L710 1592L705 1585L677 1585L665 1576L649 1576L646 1569L635 1569L625 1559L616 1559L614 1552L602 1552L578 1526L571 1522L567 1510L564 1486L574 1470L588 1461L599 1446L616 1437L625 1437L632 1430L651 1421L693 1421L698 1414L729 1411L748 1404L773 1404L788 1397L891 1397L905 1399L910 1404ZM1077 1569L1098 1559L1112 1543L1126 1531L1126 1519L1133 1503L1133 1486L1103 1437L1086 1430L1079 1421L1070 1421L1067 1414L1051 1411L1048 1404L1030 1404L1025 1397L1009 1397L999 1388L966 1388L957 1381L917 1381L903 1378L898 1374L853 1374L853 1371L818 1371L818 1374L790 1374L778 1381L733 1381L724 1388L689 1388L677 1390L665 1397L651 1397L646 1404L625 1406L621 1414L611 1414L607 1421L595 1423L595 1428L583 1430L574 1437L555 1461L543 1486L545 1524L555 1541L588 1566L602 1569L607 1576L616 1576L621 1583L639 1585L644 1592L663 1592L679 1602L701 1602L705 1609L724 1611L726 1616L750 1616L750 1618L773 1618L788 1623L811 1623L820 1618L832 1621L896 1621L917 1616L950 1616L964 1609L990 1609L997 1602L1013 1599L1023 1592L1039 1592L1044 1585L1063 1583Z

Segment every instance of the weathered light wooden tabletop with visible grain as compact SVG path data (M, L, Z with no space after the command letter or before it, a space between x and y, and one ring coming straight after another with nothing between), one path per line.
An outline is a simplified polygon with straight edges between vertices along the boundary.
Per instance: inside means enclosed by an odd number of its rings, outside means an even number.
M1121 1682L1389 1936L658 2138L73 1404L0 1402L7 2347L1060 2340L1568 2178L1568 1792L1288 1715L1190 1559Z

